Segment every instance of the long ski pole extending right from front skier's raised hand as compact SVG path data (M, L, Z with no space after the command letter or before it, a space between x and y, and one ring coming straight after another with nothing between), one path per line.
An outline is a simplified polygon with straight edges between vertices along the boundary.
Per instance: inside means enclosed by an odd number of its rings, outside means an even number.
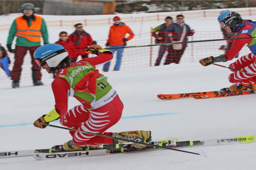
M200 43L208 41L223 41L223 40L234 40L234 39L246 39L246 38L255 38L255 37L244 37L244 38L224 38L224 39L207 39L207 40L198 40L198 41L187 41L187 42L176 42L176 43L166 43L166 44L149 44L149 45L137 45L137 46L125 46L125 47L112 47L105 49L119 49L119 48L137 48L137 47L151 47L151 46L164 46L164 45L173 45L173 44L186 44L186 43Z

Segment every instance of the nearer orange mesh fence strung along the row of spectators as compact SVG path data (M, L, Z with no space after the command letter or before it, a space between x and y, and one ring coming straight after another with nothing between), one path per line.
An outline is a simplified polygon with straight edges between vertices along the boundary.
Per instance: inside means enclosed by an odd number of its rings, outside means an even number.
M188 37L188 41L196 40L208 40L208 39L222 39L223 34L221 31L205 31L205 32L195 32L193 36ZM101 45L102 48L105 48L106 40L97 40L98 45ZM138 45L151 45L155 44L155 37L152 37L152 33L144 33L135 35L133 39L127 42L127 46L138 46ZM129 70L133 68L143 68L150 67L156 64L157 57L159 52L163 52L162 60L160 65L163 65L166 62L168 55L171 55L170 63L177 63L177 57L180 53L182 57L179 63L188 63L188 62L198 62L201 58L208 56L218 56L224 54L224 50L219 50L223 45L227 45L227 41L210 41L210 42L200 42L200 43L187 43L187 47L183 51L173 50L172 45L167 46L165 49L161 49L160 46L147 46L147 47L137 47L137 48L125 48L122 57L122 63L120 70ZM160 50L160 51L159 51ZM162 50L162 51L161 51ZM165 51L164 51L165 50ZM239 57L245 54L250 53L248 48L245 46L239 53ZM21 82L22 81L31 81L31 59L30 54L28 53L24 58L24 63L22 66ZM111 61L109 71L114 69L116 63L116 52L114 53L114 59ZM93 55L89 55L92 57ZM14 54L9 54L11 64L10 69L13 67L14 63ZM79 56L79 59L81 57ZM199 63L198 63L199 64ZM170 65L171 66L171 65ZM102 70L102 66L99 68ZM51 79L52 75L48 74L45 70L42 70L42 79ZM0 69L0 83L11 82L7 78L5 72Z

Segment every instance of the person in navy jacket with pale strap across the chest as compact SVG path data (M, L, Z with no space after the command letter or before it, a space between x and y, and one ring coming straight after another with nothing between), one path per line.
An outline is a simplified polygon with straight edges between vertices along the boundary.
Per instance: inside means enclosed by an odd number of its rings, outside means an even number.
M187 37L192 36L195 32L194 30L191 30L187 24L185 24L183 15L177 15L176 19L176 24L171 24L166 28L166 32L170 32L166 33L169 37L167 38L166 43L186 42L188 40ZM170 45L168 49L169 52L167 55L167 62L165 64L179 64L181 56L183 55L186 47L186 43Z

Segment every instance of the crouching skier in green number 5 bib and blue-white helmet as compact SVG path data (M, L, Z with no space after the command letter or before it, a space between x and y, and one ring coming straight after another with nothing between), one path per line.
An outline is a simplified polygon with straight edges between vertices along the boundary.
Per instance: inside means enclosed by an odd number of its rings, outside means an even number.
M33 125L44 129L49 122L60 119L63 126L72 129L141 142L150 141L150 131L105 132L120 120L124 107L116 90L96 69L112 60L113 53L98 45L91 45L86 51L97 56L84 58L75 64L70 63L67 50L58 44L46 44L35 51L35 62L55 75L51 86L55 105L52 111L35 120ZM74 97L81 104L68 111L68 97ZM95 148L98 145L125 142L74 131L69 133L72 140L54 146L53 151L72 151L84 146ZM145 145L134 143L133 147L142 149Z

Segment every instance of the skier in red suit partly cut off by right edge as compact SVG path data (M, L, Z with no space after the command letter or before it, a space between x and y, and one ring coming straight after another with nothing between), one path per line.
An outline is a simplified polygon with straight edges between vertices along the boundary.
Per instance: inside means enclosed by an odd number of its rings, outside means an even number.
M227 32L236 32L235 39L230 50L217 57L207 57L199 60L203 66L208 66L215 62L226 62L232 60L238 52L247 45L251 53L240 57L236 62L229 65L230 68L239 69L242 71L256 73L256 22L252 20L243 20L241 15L234 11L226 11L218 16L219 25L227 30ZM256 76L236 70L230 69L231 73L228 77L230 83L235 83L224 91L243 91L248 89L256 89Z

